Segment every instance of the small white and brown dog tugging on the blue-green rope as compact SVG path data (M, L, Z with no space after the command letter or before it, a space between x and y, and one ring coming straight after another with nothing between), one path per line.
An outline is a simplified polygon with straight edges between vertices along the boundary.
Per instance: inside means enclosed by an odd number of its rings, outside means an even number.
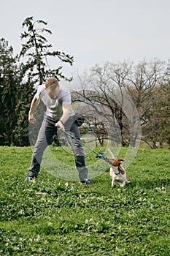
M112 158L106 158L107 162L109 163L110 166L110 176L112 177L112 187L115 186L116 181L118 182L118 184L120 185L120 187L125 187L125 184L131 184L131 181L127 180L127 176L125 173L125 169L123 168L123 166L121 165L124 160L123 159L119 159L119 158L115 158L114 154L112 154L112 151L109 151L109 154Z

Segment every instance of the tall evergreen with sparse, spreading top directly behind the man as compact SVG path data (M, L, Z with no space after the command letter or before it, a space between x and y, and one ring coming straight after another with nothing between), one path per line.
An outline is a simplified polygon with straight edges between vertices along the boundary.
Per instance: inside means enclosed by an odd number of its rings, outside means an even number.
M37 25L40 27L37 27ZM58 78L58 80L66 78L61 72L61 66L57 69L50 69L48 58L58 57L61 62L73 64L73 57L69 54L59 50L50 51L52 45L48 43L47 35L51 35L52 32L41 26L47 26L47 22L43 20L34 21L33 17L26 18L23 21L23 28L26 31L20 36L21 39L25 40L19 54L19 60L24 61L24 63L20 63L20 79L23 80L24 78L26 81L18 86L19 97L16 106L18 122L15 127L15 144L18 146L30 145L28 138L28 110L31 99L35 94L35 86L42 84L50 76ZM36 112L37 126L34 126L34 130L36 129L37 131L42 122L42 114L39 113L45 111L45 106L41 103L38 108L39 111ZM36 140L36 132L33 137Z

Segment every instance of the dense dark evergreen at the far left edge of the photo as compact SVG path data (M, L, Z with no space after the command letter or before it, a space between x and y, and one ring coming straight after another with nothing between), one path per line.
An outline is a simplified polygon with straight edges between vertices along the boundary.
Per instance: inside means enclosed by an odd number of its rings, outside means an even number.
M18 70L16 59L13 57L13 48L8 42L0 39L0 144L14 143L13 129L16 124L15 105L18 86Z

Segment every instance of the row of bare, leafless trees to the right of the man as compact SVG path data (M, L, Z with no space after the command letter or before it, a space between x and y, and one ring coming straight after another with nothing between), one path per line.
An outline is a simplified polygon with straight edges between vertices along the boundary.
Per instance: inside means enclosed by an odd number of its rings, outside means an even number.
M73 100L81 102L88 129L101 146L109 138L112 146L137 146L143 140L150 148L170 147L169 64L158 59L108 62L80 77Z

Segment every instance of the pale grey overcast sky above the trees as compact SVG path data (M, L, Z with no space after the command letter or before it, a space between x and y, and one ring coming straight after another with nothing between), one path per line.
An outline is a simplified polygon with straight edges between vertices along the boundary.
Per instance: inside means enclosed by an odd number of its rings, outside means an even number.
M47 21L53 49L74 56L66 75L107 61L170 59L169 0L0 1L0 38L17 54L23 20Z

